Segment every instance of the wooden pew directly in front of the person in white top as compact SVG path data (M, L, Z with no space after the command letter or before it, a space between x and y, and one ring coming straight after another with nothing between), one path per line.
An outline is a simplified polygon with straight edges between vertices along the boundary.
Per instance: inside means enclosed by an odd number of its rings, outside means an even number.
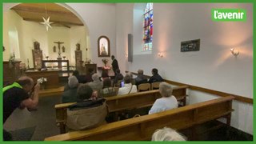
M183 105L186 105L186 88L187 86L174 87L173 95ZM134 94L125 94L122 96L113 96L106 98L106 104L109 107L109 112L118 112L122 110L139 109L147 106L152 106L157 98L161 98L159 90L150 90ZM66 109L75 102L62 103L55 105L56 122L59 125L60 133L66 133Z

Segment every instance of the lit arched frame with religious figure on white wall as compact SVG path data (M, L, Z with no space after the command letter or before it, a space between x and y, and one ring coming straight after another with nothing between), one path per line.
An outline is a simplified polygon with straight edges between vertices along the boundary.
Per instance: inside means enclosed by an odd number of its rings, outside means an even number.
M98 57L110 57L110 39L106 36L98 38Z

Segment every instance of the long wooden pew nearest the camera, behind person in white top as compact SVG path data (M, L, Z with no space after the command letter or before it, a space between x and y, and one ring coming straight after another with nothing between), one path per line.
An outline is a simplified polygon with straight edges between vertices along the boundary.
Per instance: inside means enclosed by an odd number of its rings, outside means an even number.
M144 115L123 121L112 122L91 130L59 134L45 141L145 141L150 140L154 130L169 126L175 130L224 117L230 125L232 100L228 96L166 110L156 114Z

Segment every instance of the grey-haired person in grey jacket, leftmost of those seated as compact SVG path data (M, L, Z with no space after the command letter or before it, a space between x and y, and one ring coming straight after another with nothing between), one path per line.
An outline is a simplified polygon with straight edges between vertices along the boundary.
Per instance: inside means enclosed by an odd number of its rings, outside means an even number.
M77 90L78 90L78 78L75 76L70 76L67 86L65 86L64 92L62 94L62 103L66 102L77 102Z

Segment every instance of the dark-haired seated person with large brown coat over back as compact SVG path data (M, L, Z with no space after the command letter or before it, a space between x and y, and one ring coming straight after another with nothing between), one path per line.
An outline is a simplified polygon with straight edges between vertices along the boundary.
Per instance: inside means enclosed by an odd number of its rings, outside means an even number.
M67 110L66 126L71 130L86 130L106 123L106 99L94 98L90 86L78 86L77 103Z

